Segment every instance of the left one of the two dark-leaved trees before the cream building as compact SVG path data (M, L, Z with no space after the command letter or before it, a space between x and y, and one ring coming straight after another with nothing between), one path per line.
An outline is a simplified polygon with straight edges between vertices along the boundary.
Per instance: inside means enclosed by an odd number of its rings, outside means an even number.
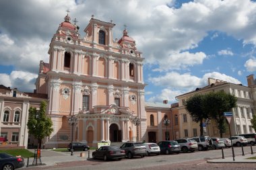
M193 117L195 122L200 122L200 135L203 136L203 119L208 118L202 110L203 95L195 94L185 101L185 108L187 112Z

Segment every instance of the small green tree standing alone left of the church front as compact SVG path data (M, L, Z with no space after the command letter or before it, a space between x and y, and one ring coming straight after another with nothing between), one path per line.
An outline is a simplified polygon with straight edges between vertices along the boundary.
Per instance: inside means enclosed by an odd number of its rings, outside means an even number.
M46 116L46 101L40 103L40 110L30 107L28 110L28 133L35 136L38 140L38 148L41 148L42 139L46 136L50 136L53 132L53 122L51 118Z

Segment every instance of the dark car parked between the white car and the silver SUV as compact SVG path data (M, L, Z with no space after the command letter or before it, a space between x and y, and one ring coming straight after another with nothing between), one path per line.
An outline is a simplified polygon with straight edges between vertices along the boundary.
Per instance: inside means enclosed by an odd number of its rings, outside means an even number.
M158 142L158 146L160 147L160 153L165 153L166 155L171 153L179 154L181 152L181 145L179 145L175 140L164 140Z

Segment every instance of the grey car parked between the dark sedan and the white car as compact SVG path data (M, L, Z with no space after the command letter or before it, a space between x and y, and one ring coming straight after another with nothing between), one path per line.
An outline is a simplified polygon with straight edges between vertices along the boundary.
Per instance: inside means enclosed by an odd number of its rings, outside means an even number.
M145 157L146 155L146 146L142 142L125 142L120 148L125 150L129 159L134 156Z

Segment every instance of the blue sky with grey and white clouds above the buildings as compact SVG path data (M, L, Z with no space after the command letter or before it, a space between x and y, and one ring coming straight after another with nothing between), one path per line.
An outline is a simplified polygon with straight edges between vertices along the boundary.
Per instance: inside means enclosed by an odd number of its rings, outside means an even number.
M146 101L176 102L175 96L207 85L212 77L247 85L256 71L256 3L249 0L63 0L0 1L0 84L32 91L40 60L66 10L83 37L91 15L124 24L143 52Z

